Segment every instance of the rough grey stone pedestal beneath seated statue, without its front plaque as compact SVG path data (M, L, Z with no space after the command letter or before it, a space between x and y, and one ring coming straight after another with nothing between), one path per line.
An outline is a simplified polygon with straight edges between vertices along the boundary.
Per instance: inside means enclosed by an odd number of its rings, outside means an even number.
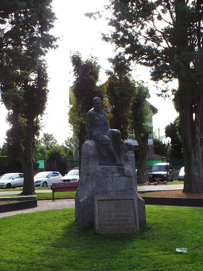
M96 142L82 147L80 184L75 195L75 220L81 228L93 226L95 196L135 195L139 225L146 224L145 202L138 195L133 146L122 143L123 166L99 165Z

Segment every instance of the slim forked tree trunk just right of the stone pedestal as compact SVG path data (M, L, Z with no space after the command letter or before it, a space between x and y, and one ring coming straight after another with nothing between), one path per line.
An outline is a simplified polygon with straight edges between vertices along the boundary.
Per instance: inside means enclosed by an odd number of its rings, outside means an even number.
M138 129L134 128L135 138L139 145L139 161L137 167L137 183L144 183L145 166L147 160L147 145L149 135L141 136Z

